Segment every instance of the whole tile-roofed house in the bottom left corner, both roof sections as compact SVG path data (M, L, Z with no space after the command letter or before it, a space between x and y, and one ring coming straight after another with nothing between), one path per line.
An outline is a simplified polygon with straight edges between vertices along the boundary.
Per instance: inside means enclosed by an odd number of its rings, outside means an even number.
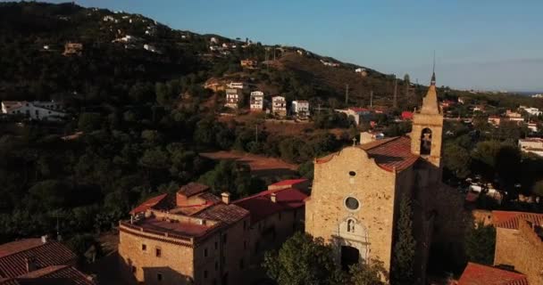
M96 285L75 268L78 256L47 236L0 245L0 284Z

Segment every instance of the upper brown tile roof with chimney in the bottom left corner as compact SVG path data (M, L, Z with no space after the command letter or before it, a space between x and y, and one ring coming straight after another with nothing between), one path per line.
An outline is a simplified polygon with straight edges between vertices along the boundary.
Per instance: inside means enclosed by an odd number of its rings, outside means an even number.
M27 273L27 258L34 259L38 268L50 265L70 265L77 256L62 243L41 239L18 240L0 246L0 277L13 278Z

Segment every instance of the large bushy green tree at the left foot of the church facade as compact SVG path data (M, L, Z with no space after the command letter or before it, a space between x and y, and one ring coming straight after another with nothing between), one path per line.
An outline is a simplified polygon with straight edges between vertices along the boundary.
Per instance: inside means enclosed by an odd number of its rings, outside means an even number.
M279 285L343 284L333 249L321 238L296 232L279 252L266 252L263 267Z

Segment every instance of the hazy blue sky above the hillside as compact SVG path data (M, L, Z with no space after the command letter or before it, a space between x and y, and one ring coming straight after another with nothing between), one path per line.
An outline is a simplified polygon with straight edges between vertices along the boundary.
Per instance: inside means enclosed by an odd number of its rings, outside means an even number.
M63 2L63 1L51 1ZM171 28L297 45L427 84L543 91L542 0L79 0Z

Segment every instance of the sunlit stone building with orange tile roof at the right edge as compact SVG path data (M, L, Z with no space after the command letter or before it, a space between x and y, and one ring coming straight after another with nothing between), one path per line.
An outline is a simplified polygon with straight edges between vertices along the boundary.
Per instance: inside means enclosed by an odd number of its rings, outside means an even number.
M530 285L543 284L543 214L493 211L494 265L513 267Z

